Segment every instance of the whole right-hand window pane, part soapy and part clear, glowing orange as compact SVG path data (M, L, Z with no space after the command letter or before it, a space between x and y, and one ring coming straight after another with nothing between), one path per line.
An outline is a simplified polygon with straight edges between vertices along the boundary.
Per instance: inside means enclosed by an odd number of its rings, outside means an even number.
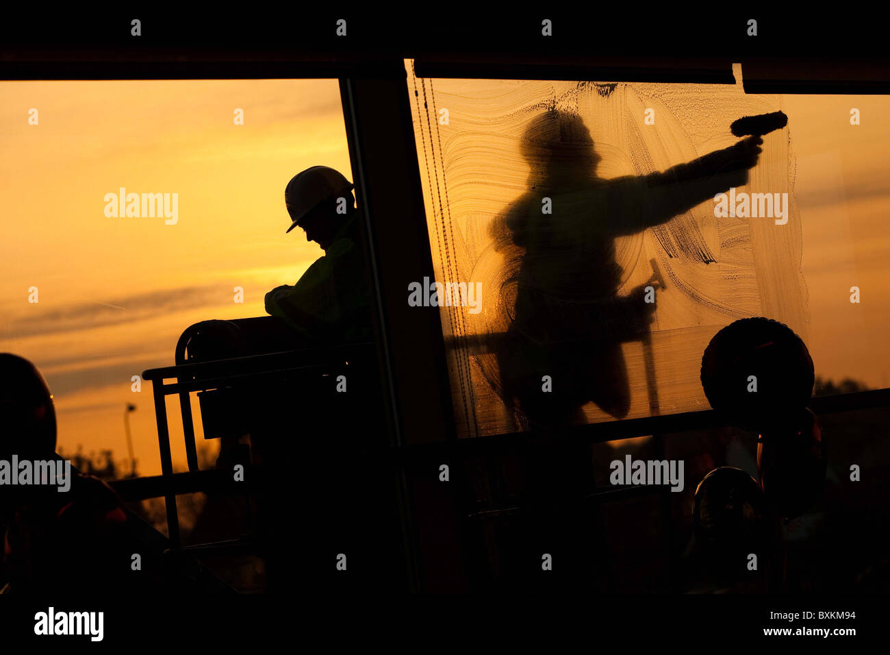
M749 316L805 341L817 394L886 386L886 98L745 94L738 65L735 85L406 67L461 436L708 409L701 355ZM732 134L775 111L759 146Z

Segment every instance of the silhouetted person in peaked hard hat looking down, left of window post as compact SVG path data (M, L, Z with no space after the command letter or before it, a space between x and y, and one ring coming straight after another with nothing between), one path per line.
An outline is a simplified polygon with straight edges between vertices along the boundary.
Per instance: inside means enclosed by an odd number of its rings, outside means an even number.
M373 339L353 186L333 168L313 166L285 189L287 232L302 227L306 241L317 242L325 255L295 285L269 291L265 307L308 343Z

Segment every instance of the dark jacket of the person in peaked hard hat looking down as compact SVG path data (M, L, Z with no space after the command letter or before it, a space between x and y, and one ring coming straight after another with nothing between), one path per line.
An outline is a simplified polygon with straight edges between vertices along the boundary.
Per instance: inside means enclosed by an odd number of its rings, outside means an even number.
M295 285L284 284L266 294L266 311L285 321L307 342L373 340L357 216L344 222L324 257Z

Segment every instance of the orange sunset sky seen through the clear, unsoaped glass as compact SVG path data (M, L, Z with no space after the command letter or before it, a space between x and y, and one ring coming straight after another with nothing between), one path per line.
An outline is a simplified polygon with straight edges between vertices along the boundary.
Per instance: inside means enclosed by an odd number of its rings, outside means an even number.
M797 153L816 373L886 386L890 101L787 95L782 107ZM850 125L851 107L862 125ZM236 108L244 126L233 124ZM191 323L263 315L264 293L320 257L302 231L285 234L284 187L316 164L352 178L337 82L0 82L0 149L0 352L44 373L66 454L79 444L123 460L125 404L137 405L139 471L157 474L150 383L134 394L131 376L172 364ZM105 217L104 195L121 186L177 192L178 223ZM854 284L860 305L849 302ZM182 465L177 405L168 402Z

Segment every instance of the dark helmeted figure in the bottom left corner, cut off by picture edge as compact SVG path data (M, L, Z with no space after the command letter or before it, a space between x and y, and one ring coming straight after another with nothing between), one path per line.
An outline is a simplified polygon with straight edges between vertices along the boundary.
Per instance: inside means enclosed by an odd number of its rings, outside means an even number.
M55 409L46 381L27 359L0 353L3 593L134 593L190 582L193 571L162 575L166 539L126 511L101 479L65 466L55 447ZM41 462L53 467L41 464L40 474L35 463ZM28 466L29 476L22 472ZM139 570L134 553L141 558Z

